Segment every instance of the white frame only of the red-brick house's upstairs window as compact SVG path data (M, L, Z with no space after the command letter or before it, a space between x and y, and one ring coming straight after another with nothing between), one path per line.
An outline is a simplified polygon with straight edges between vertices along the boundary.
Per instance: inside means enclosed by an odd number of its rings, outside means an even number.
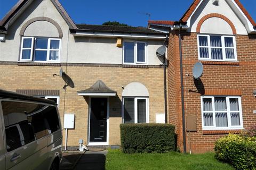
M199 37L207 37L208 46L199 46ZM211 47L211 36L219 36L221 37L221 47ZM233 38L233 45L234 47L225 47L225 38ZM209 58L203 58L200 56L200 48L208 48ZM222 60L214 60L212 59L211 48L221 48L222 49ZM235 58L226 58L226 49L234 49L234 57ZM237 62L237 50L236 50L236 37L235 36L226 36L226 35L205 35L205 34L198 34L197 35L197 51L198 51L198 60L199 61L228 61L228 62Z

